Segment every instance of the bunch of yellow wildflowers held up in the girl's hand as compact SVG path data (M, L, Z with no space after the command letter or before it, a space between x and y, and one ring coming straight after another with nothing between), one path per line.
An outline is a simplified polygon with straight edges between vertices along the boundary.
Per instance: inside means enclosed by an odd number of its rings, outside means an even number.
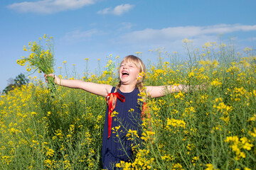
M45 41L45 45L41 44L41 41ZM45 74L53 73L53 67L55 64L53 58L53 37L43 35L43 38L39 38L39 41L28 42L28 47L24 45L24 51L29 51L31 54L28 57L21 57L21 60L17 60L17 64L21 66L26 65L26 70L31 72L43 72ZM33 72L33 73L34 73ZM32 74L33 74L32 73ZM55 96L56 86L53 77L48 77L48 88L52 92L52 96Z

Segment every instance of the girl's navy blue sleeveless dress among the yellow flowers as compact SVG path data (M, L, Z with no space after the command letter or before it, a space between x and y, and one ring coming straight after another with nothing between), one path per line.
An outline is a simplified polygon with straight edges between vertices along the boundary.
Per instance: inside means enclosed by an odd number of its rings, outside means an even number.
M111 93L114 92L115 87L112 88ZM137 130L139 135L141 132L141 107L138 103L139 89L135 88L130 93L122 93L119 89L119 94L125 97L125 101L119 101L114 108L118 114L112 117L112 128L120 126L116 133L111 130L110 137L108 137L108 106L105 116L105 125L102 137L102 164L103 169L116 169L115 164L120 161L129 162L133 159L132 143L134 141L127 140L128 130ZM118 134L118 137L117 137ZM133 144L134 145L134 144Z

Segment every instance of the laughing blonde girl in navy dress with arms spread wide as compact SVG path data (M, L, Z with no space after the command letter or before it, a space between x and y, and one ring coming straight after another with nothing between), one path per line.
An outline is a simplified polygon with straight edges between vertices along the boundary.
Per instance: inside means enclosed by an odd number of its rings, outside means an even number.
M129 162L134 157L132 141L127 140L128 130L139 130L142 123L141 104L138 103L138 94L143 89L144 72L146 68L142 60L134 55L124 57L119 67L119 84L116 87L108 84L95 84L81 80L59 79L54 74L45 74L54 77L55 84L70 88L83 89L92 94L104 96L107 100L105 126L102 137L102 164L103 169L115 169L120 161ZM187 91L188 86L145 86L145 92L151 98L164 96L166 88L169 93ZM196 86L200 88L200 86ZM112 118L112 113L117 113ZM117 133L113 130L118 129Z

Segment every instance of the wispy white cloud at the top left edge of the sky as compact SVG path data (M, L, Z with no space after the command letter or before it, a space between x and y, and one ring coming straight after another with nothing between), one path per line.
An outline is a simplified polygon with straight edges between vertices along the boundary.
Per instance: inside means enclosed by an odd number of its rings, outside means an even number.
M42 1L23 1L11 4L8 8L21 13L57 13L59 11L74 10L83 6L94 4L95 0L42 0Z

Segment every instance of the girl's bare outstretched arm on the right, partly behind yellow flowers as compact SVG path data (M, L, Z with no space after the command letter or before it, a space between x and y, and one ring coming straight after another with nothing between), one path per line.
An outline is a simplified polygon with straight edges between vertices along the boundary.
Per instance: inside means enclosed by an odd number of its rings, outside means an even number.
M200 89L206 89L206 84L201 84L197 86L190 85L168 85L168 86L146 86L146 94L149 94L151 98L157 98L165 96L166 94L178 93L180 91L197 91Z

